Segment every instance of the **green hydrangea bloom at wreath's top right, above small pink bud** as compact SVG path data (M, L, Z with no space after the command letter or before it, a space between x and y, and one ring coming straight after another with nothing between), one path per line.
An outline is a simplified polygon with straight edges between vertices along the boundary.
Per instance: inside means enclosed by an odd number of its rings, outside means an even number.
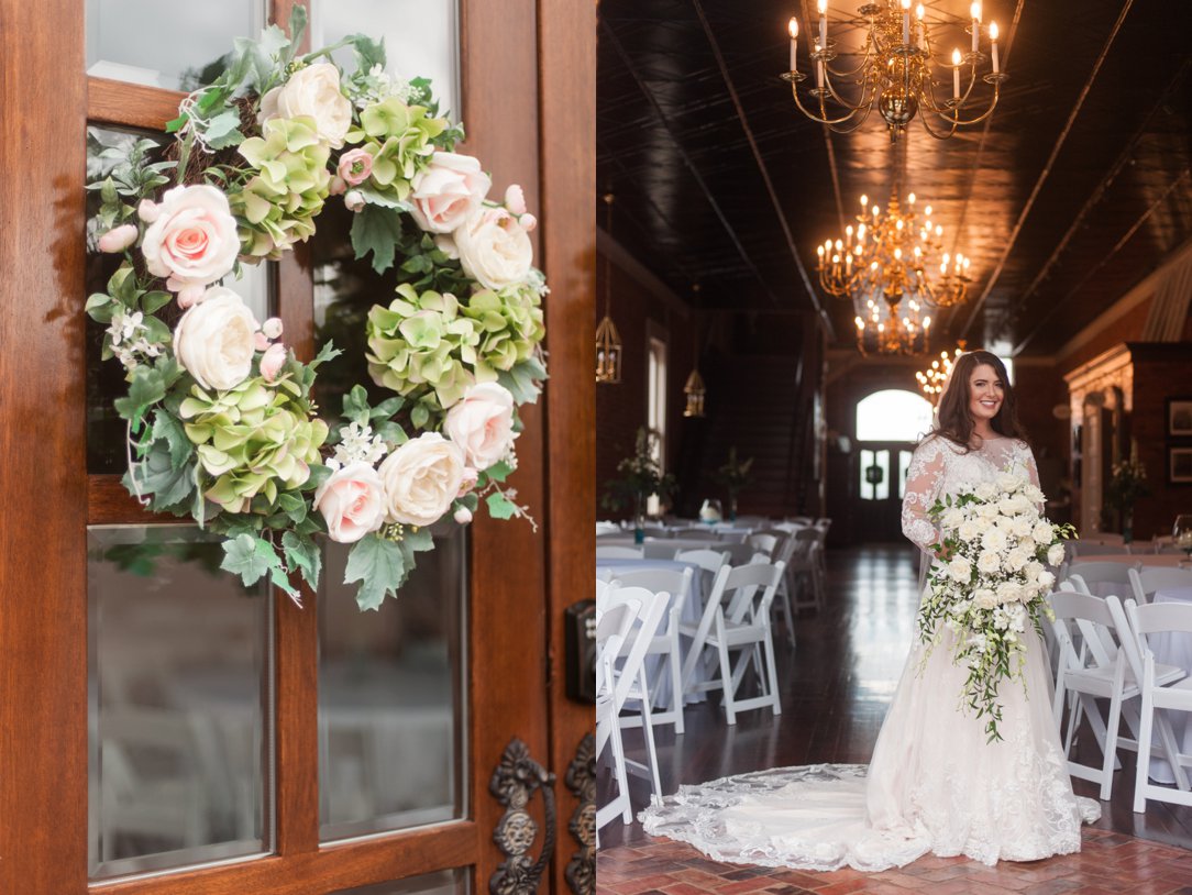
M435 151L432 141L447 129L446 118L430 118L424 106L408 106L397 97L373 102L360 112L360 125L347 142L360 144L373 157L367 185L392 203L405 201L410 180Z

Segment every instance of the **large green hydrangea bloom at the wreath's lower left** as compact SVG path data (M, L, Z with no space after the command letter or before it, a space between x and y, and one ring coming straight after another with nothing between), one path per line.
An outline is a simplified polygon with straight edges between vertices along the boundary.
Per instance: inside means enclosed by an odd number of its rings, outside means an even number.
M246 379L226 392L194 386L179 409L199 464L215 478L204 492L228 512L248 512L262 495L272 508L283 490L300 487L319 462L327 423L299 403L288 378Z

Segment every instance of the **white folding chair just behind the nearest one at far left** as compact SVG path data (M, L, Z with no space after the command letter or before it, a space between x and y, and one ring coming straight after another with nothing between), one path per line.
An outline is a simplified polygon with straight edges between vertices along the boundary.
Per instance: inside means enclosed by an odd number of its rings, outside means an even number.
M625 635L621 642L621 652L614 658L613 675L616 678L615 689L620 696L617 701L616 726L619 731L626 729L621 720L626 702L633 700L641 706L641 733L646 741L646 760L634 762L626 756L625 766L627 771L640 773L650 781L651 798L663 797L662 781L658 777L658 751L654 747L654 728L651 719L650 686L646 680L646 654L654 642L654 636L662 624L666 608L671 597L666 591L654 592L646 588L626 588L620 584L615 591L608 596L611 607L623 602L639 601L641 611L638 620Z

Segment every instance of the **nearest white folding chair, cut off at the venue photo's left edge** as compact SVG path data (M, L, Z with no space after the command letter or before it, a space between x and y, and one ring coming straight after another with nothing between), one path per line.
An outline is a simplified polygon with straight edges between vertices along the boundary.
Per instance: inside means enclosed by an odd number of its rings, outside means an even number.
M600 760L606 746L613 753L613 779L616 783L616 795L596 809L596 835L619 814L625 823L633 821L633 806L629 802L629 778L625 767L625 745L621 741L621 728L616 723L619 714L616 677L613 663L621 652L621 645L634 619L641 611L641 601L625 599L611 605L609 598L614 586L602 589L596 586L596 759ZM602 599L603 598L603 599Z

